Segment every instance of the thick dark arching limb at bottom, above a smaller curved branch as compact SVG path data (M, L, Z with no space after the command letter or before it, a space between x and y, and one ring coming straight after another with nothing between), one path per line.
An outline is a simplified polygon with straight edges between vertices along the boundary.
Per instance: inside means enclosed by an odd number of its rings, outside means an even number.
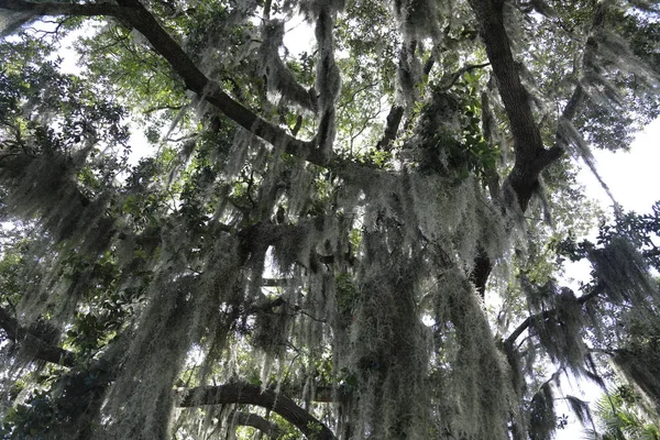
M182 394L179 407L202 405L257 405L268 408L294 425L309 439L334 440L334 433L320 420L299 407L290 398L257 385L237 382L219 386L201 386Z

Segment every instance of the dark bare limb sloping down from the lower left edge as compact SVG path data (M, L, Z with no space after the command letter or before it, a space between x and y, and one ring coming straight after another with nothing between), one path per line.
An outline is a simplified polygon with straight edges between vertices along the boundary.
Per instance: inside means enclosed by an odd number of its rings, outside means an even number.
M76 365L76 355L73 352L42 341L37 334L32 334L22 328L18 320L2 307L0 307L0 327L10 340L21 344L22 350L35 360L68 367Z

